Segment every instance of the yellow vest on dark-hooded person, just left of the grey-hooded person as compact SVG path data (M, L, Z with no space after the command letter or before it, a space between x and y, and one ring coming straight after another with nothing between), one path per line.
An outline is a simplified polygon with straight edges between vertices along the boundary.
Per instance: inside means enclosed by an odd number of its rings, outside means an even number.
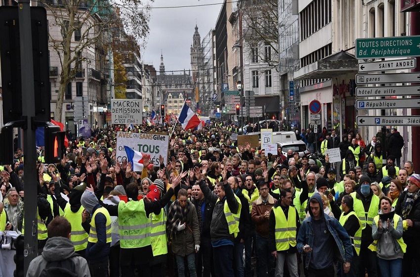
M87 247L87 239L89 235L84 231L84 228L82 227L82 212L84 210L84 207L81 206L79 208L79 211L76 213L72 212L70 203L66 204L66 207L64 208L64 217L70 222L70 225L72 226L71 231L71 241L73 242L73 245L75 246L75 251L81 251L86 249Z

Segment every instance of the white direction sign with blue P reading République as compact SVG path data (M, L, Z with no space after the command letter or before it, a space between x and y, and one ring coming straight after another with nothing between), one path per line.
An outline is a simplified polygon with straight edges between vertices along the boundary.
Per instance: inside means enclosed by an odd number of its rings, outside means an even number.
M403 108L420 108L420 98L356 100L358 110Z

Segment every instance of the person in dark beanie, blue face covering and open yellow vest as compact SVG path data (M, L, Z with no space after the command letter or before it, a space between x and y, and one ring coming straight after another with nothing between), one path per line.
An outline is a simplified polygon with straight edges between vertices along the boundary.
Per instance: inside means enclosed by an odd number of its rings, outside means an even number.
M372 181L367 175L362 175L356 191L350 193L353 198L353 209L362 223L362 242L359 254L359 272L364 272L365 268L369 276L377 276L376 255L368 247L373 242L372 223L378 215L379 198L371 189Z

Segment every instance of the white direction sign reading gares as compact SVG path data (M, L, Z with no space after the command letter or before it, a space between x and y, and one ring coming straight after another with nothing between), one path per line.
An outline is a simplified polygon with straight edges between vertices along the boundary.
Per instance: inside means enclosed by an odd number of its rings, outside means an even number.
M388 74L356 74L357 85L419 83L420 72Z

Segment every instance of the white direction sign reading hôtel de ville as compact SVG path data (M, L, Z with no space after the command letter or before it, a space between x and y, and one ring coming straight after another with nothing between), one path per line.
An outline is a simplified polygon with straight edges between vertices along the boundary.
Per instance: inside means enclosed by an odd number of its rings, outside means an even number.
M420 86L362 87L356 88L357 97L419 95Z

